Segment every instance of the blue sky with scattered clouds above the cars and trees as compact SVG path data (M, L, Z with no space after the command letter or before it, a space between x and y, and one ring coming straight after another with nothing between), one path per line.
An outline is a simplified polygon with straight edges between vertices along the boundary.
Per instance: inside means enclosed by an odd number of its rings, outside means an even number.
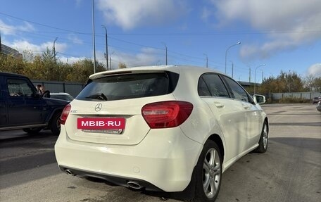
M92 0L0 5L2 44L39 54L57 38L59 60L94 58ZM96 59L106 64L105 25L113 68L165 65L166 46L169 65L204 67L208 58L208 68L225 72L227 55L235 80L248 81L250 68L251 82L262 72L321 77L320 8L320 0L94 0Z

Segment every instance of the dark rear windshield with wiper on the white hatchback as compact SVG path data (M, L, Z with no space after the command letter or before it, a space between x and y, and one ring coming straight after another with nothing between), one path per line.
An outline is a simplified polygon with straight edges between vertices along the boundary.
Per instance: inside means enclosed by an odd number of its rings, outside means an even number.
M114 101L160 96L174 91L179 75L173 72L111 75L89 80L76 99Z

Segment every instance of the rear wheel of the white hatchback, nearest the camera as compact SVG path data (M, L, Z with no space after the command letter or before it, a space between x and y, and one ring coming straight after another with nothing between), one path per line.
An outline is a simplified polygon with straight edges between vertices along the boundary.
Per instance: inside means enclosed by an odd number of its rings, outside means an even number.
M214 141L208 140L204 144L195 175L195 196L190 201L215 201L222 182L222 156L220 148Z

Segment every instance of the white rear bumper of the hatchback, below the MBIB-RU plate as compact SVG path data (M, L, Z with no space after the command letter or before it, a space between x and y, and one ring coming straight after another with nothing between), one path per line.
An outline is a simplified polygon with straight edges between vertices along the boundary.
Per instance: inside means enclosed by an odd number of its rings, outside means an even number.
M132 181L146 190L168 192L187 188L202 149L180 127L150 130L139 144L128 146L73 141L62 125L55 145L59 167L73 175L99 177L125 187Z

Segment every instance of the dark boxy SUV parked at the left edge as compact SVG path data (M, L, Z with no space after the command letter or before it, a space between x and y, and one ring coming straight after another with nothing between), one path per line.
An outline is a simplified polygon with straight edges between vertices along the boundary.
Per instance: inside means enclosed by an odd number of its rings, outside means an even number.
M36 134L60 132L60 116L67 101L42 98L25 76L0 72L0 131L22 129Z

